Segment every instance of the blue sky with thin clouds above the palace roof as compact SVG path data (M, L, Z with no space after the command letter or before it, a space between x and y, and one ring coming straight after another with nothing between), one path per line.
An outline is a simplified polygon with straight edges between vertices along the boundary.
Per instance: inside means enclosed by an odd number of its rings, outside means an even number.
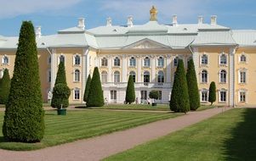
M43 35L77 25L86 19L86 29L105 25L107 17L113 25L126 25L128 15L134 24L145 24L152 5L158 9L158 21L171 24L173 14L180 24L196 23L203 15L218 16L218 24L232 29L256 29L255 0L0 0L0 35L18 36L22 20L41 25Z

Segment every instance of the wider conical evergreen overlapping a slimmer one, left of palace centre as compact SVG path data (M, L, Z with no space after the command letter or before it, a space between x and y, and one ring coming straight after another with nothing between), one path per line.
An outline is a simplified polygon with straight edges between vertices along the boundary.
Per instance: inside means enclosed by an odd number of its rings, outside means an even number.
M94 68L94 74L91 81L91 86L88 94L88 107L102 107L104 106L103 92L100 82L100 73L98 67Z

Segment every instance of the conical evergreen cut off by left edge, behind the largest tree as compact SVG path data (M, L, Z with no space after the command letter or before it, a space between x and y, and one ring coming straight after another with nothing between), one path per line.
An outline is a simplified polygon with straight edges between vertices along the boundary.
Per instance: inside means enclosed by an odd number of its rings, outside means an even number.
M0 104L7 103L10 86L11 86L11 80L9 78L9 70L4 69L3 78L0 81Z

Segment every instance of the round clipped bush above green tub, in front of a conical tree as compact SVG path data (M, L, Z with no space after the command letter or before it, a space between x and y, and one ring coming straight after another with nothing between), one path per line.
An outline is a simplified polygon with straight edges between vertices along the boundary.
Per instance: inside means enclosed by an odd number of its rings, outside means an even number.
M69 106L68 98L71 95L71 89L63 83L54 86L54 99L52 100L53 108L67 108ZM62 107L61 107L62 105Z

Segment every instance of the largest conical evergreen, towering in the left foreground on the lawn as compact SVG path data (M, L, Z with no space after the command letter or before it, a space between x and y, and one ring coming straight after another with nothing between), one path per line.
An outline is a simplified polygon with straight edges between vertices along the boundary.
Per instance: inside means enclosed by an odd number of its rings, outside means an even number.
M43 116L35 31L31 21L24 21L4 115L4 138L14 142L40 142L44 134Z

